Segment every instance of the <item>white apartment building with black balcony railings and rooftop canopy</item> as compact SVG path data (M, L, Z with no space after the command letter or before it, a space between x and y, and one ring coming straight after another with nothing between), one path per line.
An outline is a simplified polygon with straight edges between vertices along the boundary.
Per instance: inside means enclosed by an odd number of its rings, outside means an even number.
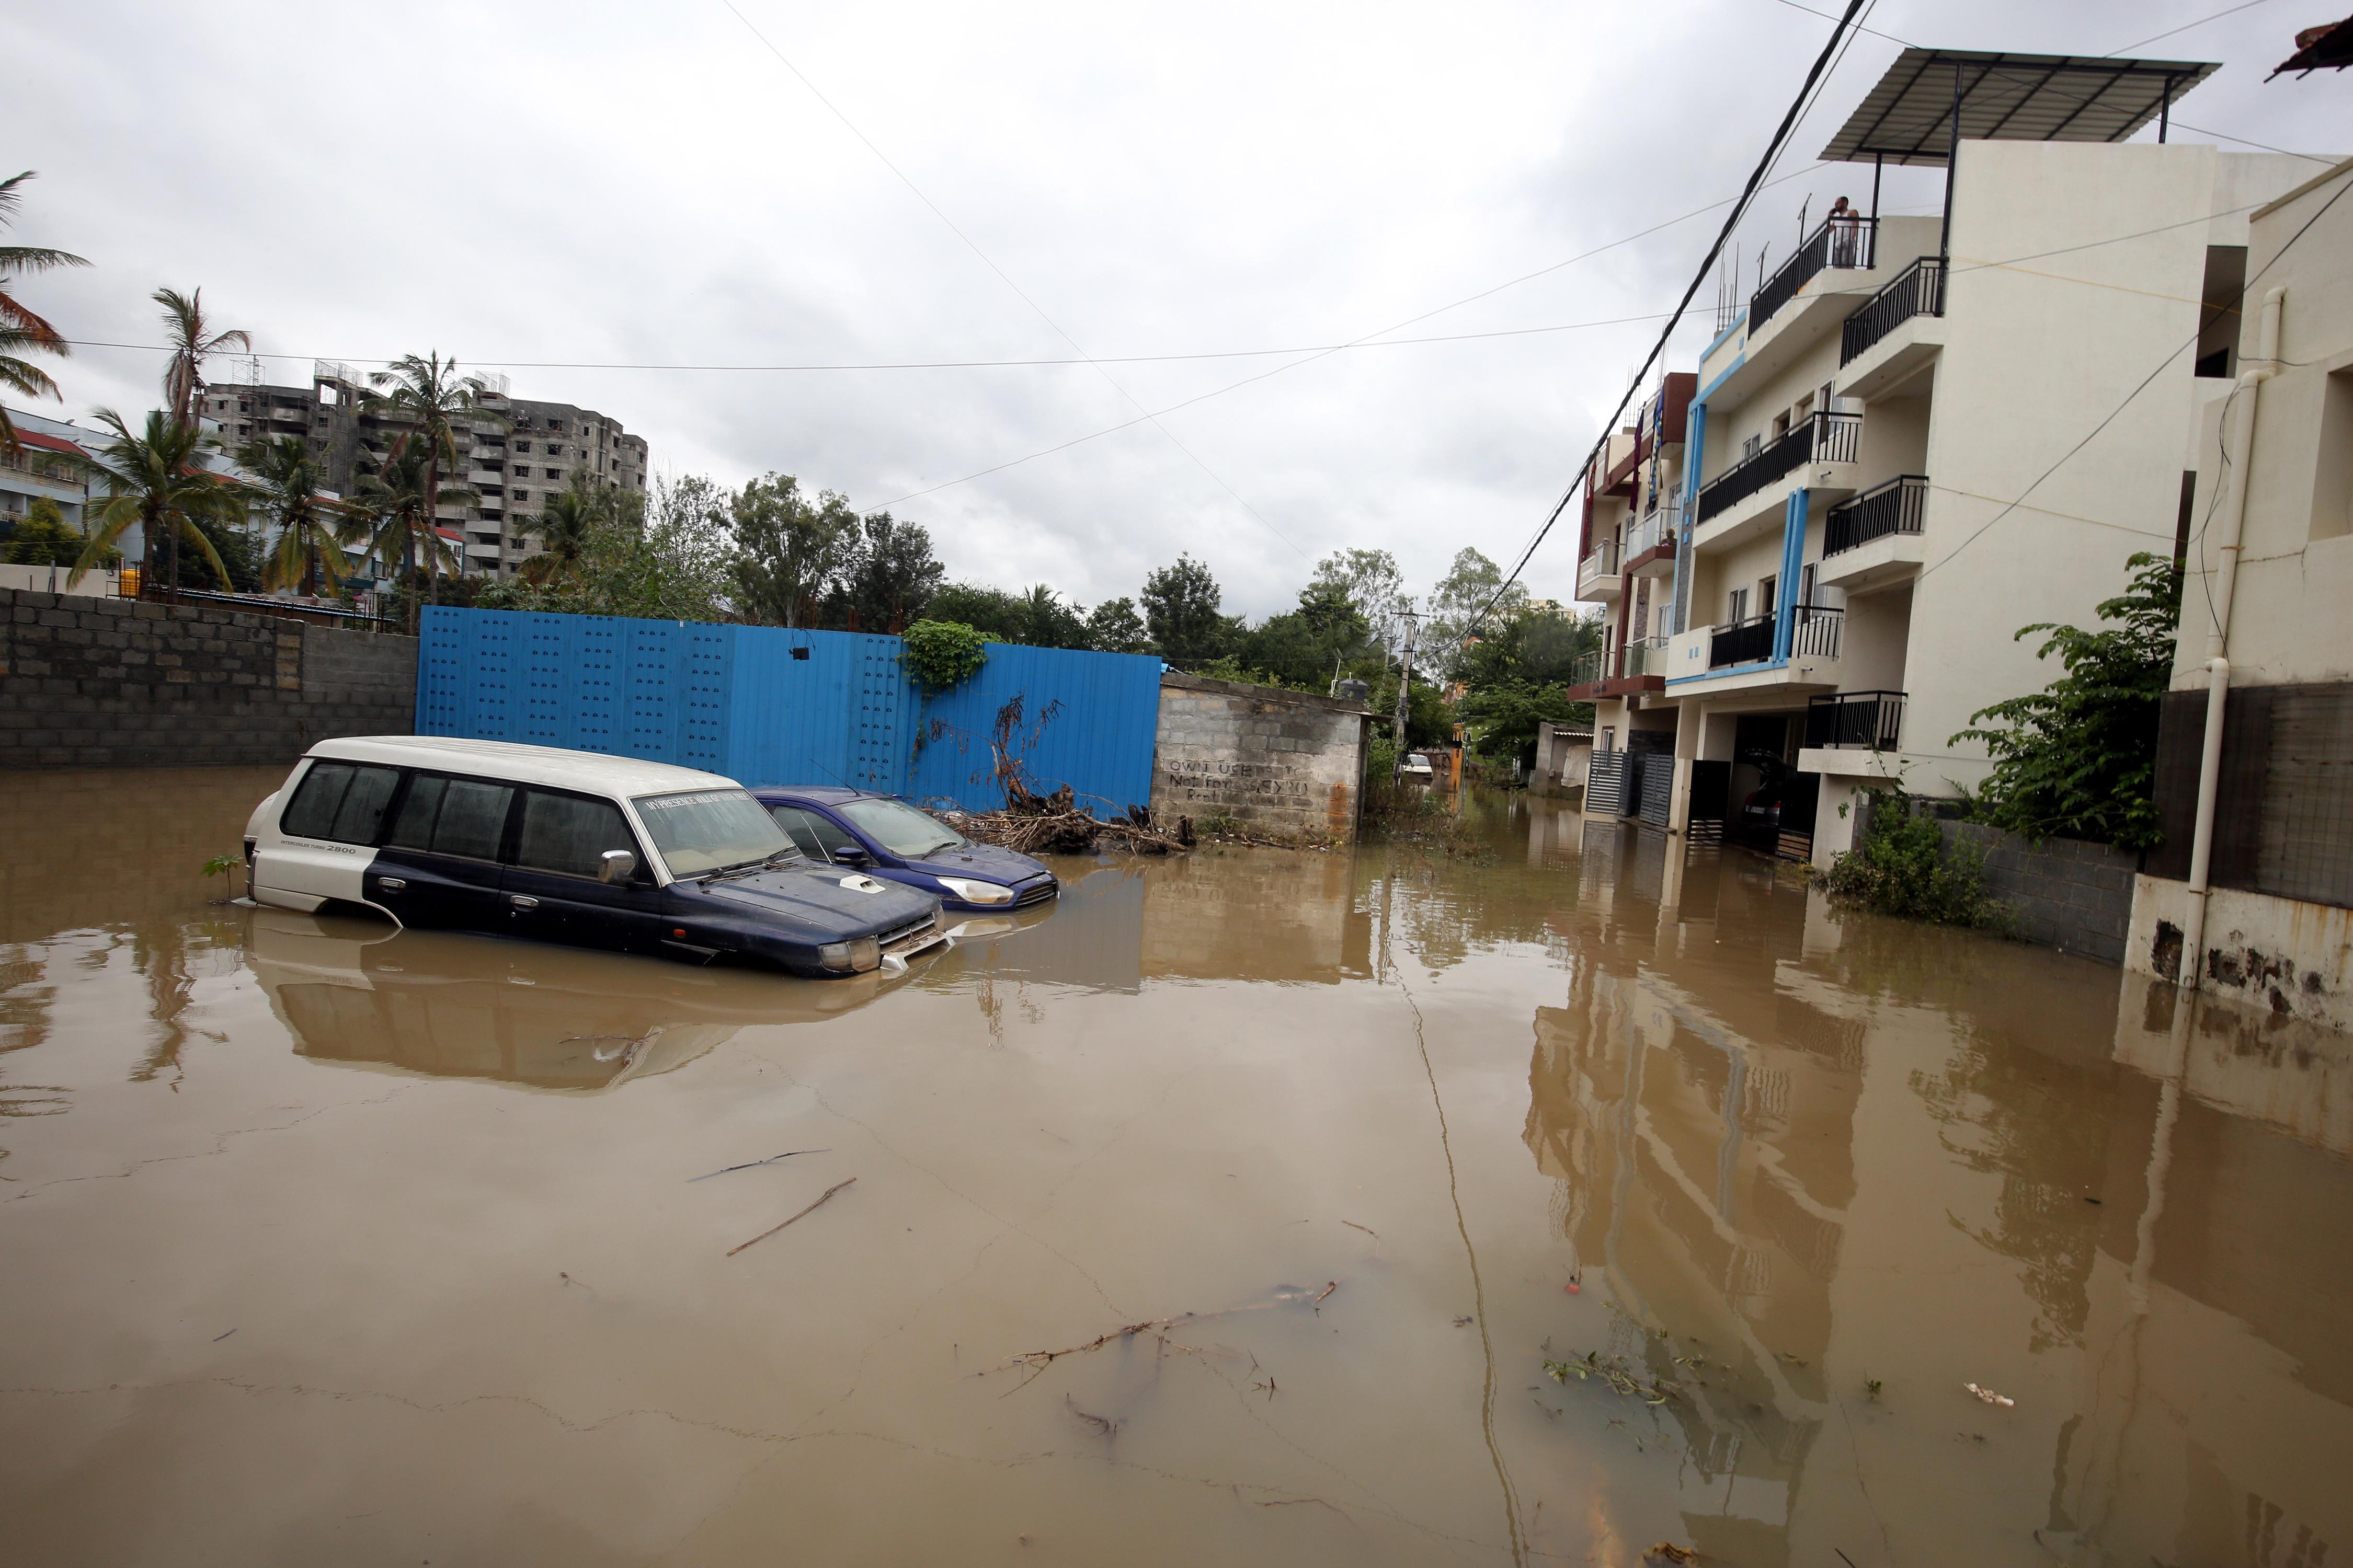
M2122 143L2209 71L1908 49L1866 96L1824 158L1946 165L1946 212L1878 216L1866 174L1701 355L1666 625L1595 717L1595 776L1614 719L1673 731L1645 820L1737 830L1784 776L1781 849L1828 865L1857 790L1984 780L1951 736L2059 675L2021 625L2177 548L2247 214L2313 169Z

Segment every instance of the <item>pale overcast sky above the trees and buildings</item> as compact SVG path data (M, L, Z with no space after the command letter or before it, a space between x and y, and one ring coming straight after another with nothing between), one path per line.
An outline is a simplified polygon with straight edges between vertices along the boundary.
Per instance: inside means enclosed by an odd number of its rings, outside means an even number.
M2106 54L2226 2L1880 0L1868 26ZM656 470L889 505L962 578L1094 604L1186 550L1261 616L1341 545L1395 550L1417 590L1466 543L1518 555L1659 331L1581 324L1671 310L1722 214L1558 263L1734 195L1831 28L1784 0L734 5L9 7L5 162L40 172L16 240L96 263L19 292L71 339L155 343L148 294L202 287L292 355L273 381L440 348L624 421ZM2181 120L2325 150L2353 82L2264 73L2339 7L2266 0L2144 54L2224 61ZM1807 195L1868 195L1868 169L1805 169L1897 47L1842 59L1748 256L1786 254ZM1889 172L1882 207L1934 209L1939 179ZM1673 369L1711 306L1704 287ZM1522 336L1101 369L525 367L1202 355L1402 322ZM1577 329L1525 331L1551 327ZM82 416L148 407L158 364L82 348L52 369ZM1574 529L1539 550L1539 597L1572 597L1572 555Z

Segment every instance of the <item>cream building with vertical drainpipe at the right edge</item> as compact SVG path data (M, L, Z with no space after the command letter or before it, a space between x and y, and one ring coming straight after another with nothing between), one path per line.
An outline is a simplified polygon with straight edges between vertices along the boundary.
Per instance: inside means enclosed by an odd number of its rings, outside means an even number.
M2353 160L2252 216L2235 355L2125 964L2353 1030Z

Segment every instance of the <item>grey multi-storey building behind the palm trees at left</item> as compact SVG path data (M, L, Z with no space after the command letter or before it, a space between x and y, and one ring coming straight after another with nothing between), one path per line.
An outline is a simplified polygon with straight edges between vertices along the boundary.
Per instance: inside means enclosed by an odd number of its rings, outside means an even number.
M614 489L647 487L645 437L628 435L621 421L569 402L513 397L506 376L482 383L482 407L504 423L473 423L461 473L447 475L447 484L473 489L478 501L435 512L445 531L461 538L468 574L513 574L539 555L539 510L574 475ZM221 425L231 451L271 435L304 437L327 484L351 494L358 475L384 461L402 425L393 411L367 409L372 393L360 371L318 360L308 388L216 383L205 390L202 411Z

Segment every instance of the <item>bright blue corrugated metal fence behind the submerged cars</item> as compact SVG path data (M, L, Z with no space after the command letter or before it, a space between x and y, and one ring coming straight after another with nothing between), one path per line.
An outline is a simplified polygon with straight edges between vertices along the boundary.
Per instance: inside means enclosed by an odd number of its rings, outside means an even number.
M1019 698L1033 788L1096 809L1151 799L1160 661L988 644L981 672L922 693L899 639L776 625L431 607L416 733L562 745L727 773L1002 804L991 731Z

